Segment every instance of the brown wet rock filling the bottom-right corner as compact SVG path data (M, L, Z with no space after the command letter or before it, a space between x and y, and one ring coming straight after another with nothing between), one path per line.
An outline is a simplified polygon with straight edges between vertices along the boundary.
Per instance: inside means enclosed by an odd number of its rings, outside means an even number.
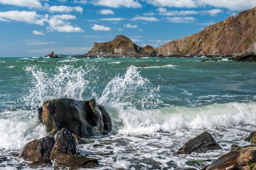
M201 170L249 170L256 169L256 147L229 152Z

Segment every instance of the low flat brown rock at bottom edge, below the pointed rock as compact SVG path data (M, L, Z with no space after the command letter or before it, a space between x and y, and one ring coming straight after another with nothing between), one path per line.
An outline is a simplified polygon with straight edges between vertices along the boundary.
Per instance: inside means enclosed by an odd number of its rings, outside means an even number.
M99 162L95 158L59 154L54 163L54 170L62 169L62 168L68 168L68 169L94 168L98 166L99 166Z

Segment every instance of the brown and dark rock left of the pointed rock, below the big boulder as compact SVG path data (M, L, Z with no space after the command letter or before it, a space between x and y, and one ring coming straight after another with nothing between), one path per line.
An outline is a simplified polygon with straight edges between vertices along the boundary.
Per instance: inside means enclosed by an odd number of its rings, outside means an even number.
M25 145L22 152L19 154L19 158L23 158L27 161L49 159L53 143L54 138L50 136L46 136L39 140L32 140Z

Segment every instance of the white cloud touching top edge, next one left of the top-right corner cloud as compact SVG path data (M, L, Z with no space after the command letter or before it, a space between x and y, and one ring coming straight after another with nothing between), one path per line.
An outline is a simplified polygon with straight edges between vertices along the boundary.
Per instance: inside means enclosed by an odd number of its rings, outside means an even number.
M208 0L205 0L208 1ZM218 0L217 0L218 1ZM147 0L147 4L157 7L176 7L176 8L196 8L197 5L193 0Z

